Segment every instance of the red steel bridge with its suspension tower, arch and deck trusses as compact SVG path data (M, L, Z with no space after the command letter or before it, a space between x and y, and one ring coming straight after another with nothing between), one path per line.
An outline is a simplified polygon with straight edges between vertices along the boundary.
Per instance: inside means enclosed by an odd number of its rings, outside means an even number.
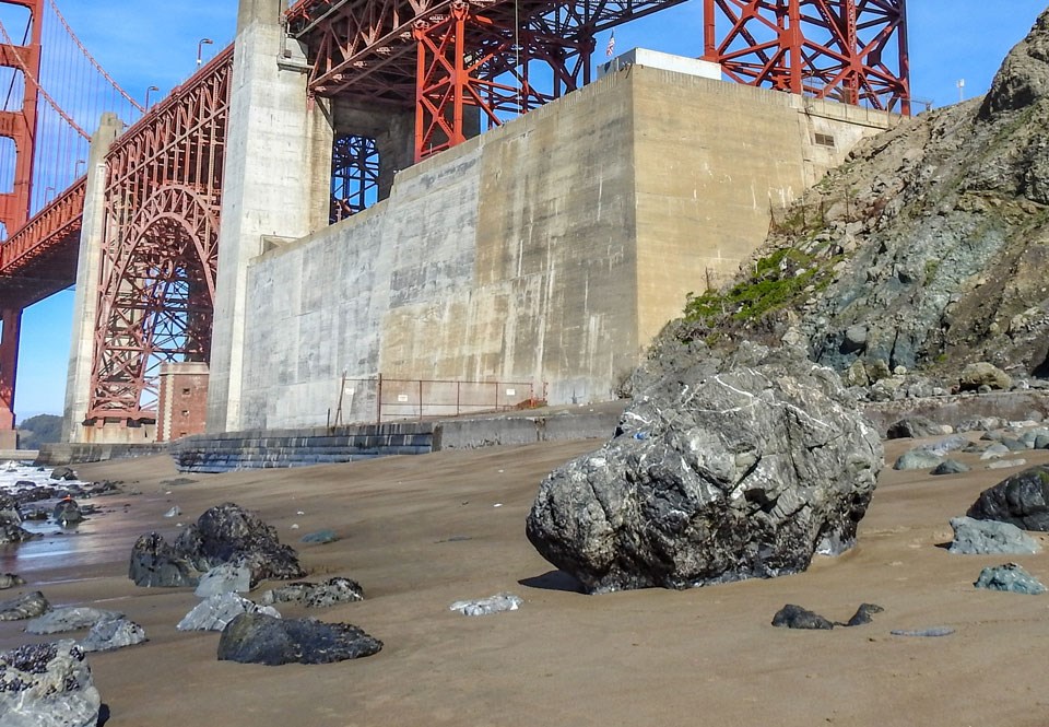
M599 33L685 1L300 0L284 30L306 49L304 103L413 112L417 161L464 141L471 116L498 126L587 84ZM909 114L905 0L688 1L704 19L696 56L727 79ZM146 109L94 62L56 0L7 5L30 21L0 38L12 74L0 112L10 142L0 148L0 431L14 425L22 310L75 281L86 130L102 112L126 129L97 177L106 202L84 423L155 420L160 365L209 360L235 47ZM51 56L69 60L47 72ZM337 136L332 160L337 221L366 204L374 145Z

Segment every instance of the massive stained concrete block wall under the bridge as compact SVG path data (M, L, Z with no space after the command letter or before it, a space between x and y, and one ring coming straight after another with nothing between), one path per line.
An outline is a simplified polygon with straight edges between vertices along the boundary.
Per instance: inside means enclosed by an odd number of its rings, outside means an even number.
M400 172L386 201L251 261L241 423L325 424L344 373L612 398L708 267L738 267L774 209L895 122L841 109L633 67Z

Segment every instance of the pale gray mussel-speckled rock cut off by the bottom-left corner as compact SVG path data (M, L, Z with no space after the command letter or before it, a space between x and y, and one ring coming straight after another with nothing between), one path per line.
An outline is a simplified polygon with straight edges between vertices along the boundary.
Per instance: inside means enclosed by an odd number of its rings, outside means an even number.
M95 727L102 697L84 650L71 641L0 654L3 727Z

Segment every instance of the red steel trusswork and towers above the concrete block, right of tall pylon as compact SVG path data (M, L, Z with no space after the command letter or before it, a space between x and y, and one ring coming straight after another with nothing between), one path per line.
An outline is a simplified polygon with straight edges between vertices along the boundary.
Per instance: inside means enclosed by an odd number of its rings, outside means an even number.
M422 157L462 140L465 106L498 124L555 98L586 82L596 33L683 1L303 0L286 22L310 91L414 106ZM728 78L910 113L905 0L703 2L704 58ZM528 82L537 59L552 93Z

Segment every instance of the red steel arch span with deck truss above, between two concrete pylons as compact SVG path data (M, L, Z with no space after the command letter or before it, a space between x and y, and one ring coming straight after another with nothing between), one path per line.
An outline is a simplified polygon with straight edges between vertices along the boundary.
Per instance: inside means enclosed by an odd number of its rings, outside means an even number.
M210 357L232 69L229 47L106 156L85 423L155 421L161 364Z

